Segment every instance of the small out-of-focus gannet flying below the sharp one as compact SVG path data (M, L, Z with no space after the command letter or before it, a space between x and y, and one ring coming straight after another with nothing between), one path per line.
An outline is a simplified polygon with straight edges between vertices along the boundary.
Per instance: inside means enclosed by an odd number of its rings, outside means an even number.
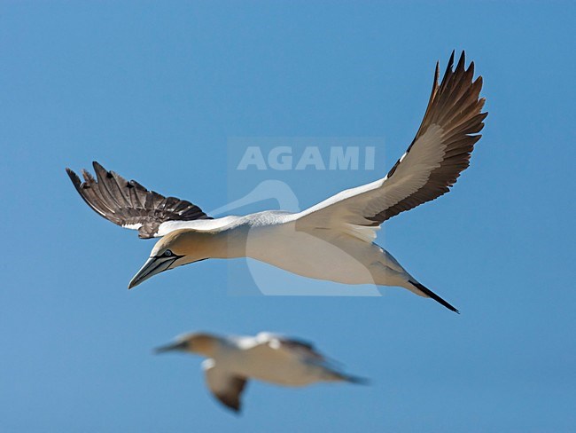
M284 386L316 382L366 383L344 374L309 342L283 335L218 336L193 333L156 349L157 353L182 350L203 355L206 384L223 405L238 412L245 384L250 379Z

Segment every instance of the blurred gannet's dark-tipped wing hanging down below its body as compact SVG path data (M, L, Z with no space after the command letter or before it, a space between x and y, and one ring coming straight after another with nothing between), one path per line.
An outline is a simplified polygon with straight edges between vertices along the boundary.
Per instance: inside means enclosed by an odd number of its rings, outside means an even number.
M206 374L206 384L214 397L234 412L239 412L246 379L218 368L214 359L206 359L202 363L202 368Z

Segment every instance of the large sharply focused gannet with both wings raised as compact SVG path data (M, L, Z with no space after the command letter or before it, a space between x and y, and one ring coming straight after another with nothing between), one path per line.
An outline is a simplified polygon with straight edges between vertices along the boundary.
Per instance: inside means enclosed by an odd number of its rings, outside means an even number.
M482 77L473 80L474 63L468 69L464 63L462 53L454 69L452 52L440 84L436 64L416 138L384 178L301 212L267 210L213 219L190 201L148 191L97 162L97 179L83 170L82 182L66 171L100 216L137 230L140 238L162 237L128 288L183 264L247 256L313 279L404 287L457 312L374 240L385 220L448 193L468 167L487 113L482 113L485 99L479 98Z

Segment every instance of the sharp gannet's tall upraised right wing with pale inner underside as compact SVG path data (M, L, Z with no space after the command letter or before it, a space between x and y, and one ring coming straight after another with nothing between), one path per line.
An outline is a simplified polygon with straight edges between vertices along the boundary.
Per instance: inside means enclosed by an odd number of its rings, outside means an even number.
M454 52L439 84L436 64L432 94L416 138L388 175L358 186L300 213L301 229L378 226L404 210L432 201L455 184L470 164L474 144L484 127L479 98L482 77L473 80L474 63L464 67L464 52L454 67ZM362 237L362 230L357 231Z

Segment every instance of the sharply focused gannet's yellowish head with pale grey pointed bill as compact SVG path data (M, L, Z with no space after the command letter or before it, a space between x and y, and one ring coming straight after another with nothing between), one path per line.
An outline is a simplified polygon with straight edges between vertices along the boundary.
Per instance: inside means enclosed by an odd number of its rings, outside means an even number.
M156 242L150 258L130 280L128 288L136 287L160 272L209 258L211 248L214 248L211 238L214 238L212 233L190 229L169 232Z

